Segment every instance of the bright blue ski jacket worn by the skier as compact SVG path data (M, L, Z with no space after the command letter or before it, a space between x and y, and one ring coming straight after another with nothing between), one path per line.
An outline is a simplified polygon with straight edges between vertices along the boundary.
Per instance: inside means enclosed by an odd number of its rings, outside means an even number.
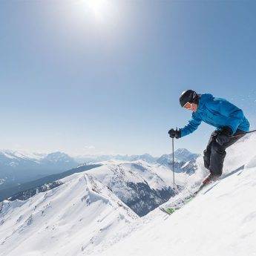
M226 99L214 98L209 93L201 94L197 111L193 112L188 125L180 129L180 136L184 137L197 130L202 121L217 129L228 126L232 129L233 134L237 129L249 131L250 127L249 121L240 108L237 108Z

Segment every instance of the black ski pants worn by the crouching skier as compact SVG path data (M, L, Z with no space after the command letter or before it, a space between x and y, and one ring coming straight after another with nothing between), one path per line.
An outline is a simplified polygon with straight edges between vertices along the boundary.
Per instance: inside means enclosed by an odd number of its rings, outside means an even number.
M226 148L234 144L234 142L237 142L237 140L239 140L241 137L245 135L244 131L237 130L236 133L233 134L233 136L238 134L243 134L243 135L240 135L237 137L231 136L229 139L229 142L226 142L223 145L220 145L216 141L217 131L214 131L211 134L206 150L203 151L204 165L207 169L209 169L211 174L217 175L217 176L222 174L223 163L226 157Z

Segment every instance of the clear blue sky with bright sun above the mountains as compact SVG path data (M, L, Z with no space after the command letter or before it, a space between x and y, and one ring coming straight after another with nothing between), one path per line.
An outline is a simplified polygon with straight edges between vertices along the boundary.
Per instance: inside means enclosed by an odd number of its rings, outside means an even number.
M93 4L97 3L97 4ZM1 1L1 148L171 152L186 89L243 108L255 128L255 1ZM176 148L201 152L201 125Z

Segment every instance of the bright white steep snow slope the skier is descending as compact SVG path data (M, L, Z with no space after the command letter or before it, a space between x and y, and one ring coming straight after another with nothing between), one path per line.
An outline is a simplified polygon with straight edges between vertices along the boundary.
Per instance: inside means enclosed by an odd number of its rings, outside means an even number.
M227 177L171 216L151 211L105 240L93 255L256 255L255 145L255 134L237 142L227 150ZM197 186L205 174L198 170L188 188Z

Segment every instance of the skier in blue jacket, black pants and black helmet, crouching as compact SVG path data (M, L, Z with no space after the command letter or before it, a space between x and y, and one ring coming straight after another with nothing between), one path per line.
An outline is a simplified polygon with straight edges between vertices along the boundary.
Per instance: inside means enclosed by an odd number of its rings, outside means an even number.
M209 93L184 91L180 95L180 105L193 111L192 118L184 128L168 131L171 138L179 139L191 134L202 121L217 128L211 134L206 150L203 151L204 165L210 171L203 184L211 183L222 174L226 148L249 131L249 122L240 108L226 99L215 98ZM239 136L235 137L236 135Z

